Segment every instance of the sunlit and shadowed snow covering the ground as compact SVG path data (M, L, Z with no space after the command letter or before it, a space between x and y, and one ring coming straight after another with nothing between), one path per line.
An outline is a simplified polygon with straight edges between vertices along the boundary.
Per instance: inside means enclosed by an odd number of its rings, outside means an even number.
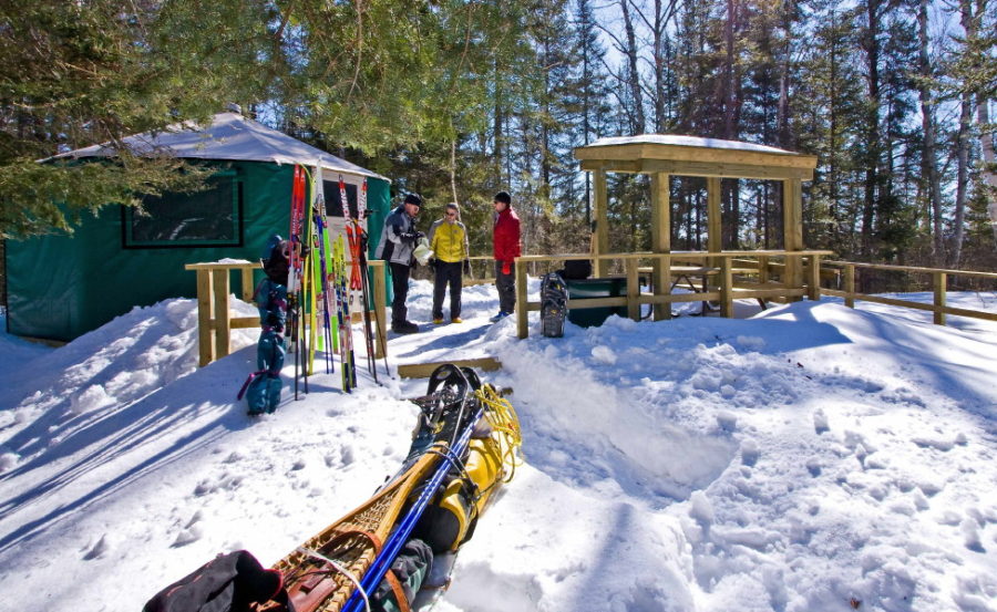
M520 341L491 287L464 304L390 365L500 359L526 465L436 610L997 611L997 324L825 300ZM218 552L273 563L397 469L423 381L319 374L250 421L255 335L197 369L193 300L0 335L0 610L134 612Z

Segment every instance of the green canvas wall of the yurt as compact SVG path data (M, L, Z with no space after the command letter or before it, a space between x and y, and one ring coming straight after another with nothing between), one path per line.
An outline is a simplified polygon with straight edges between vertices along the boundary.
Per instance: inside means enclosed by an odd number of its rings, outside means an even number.
M168 298L195 298L196 274L184 264L246 259L257 261L271 234L287 236L294 166L265 162L210 162L217 166L219 185L210 193L189 196L232 201L234 216L222 226L232 231L218 245L179 243L169 236L143 235L143 219L132 209L107 206L99 216L85 218L72 235L53 235L7 242L8 332L18 335L69 341L103 325L136 305L151 305ZM337 179L325 176L326 199L339 203ZM363 177L351 176L354 185ZM387 180L367 178L370 210L370 245L377 245L389 209ZM226 190L230 189L230 191ZM218 195L220 191L220 196ZM350 204L356 186L349 193ZM168 200L174 198L174 200ZM171 195L164 201L181 201ZM217 205L217 201L216 201ZM194 221L218 225L218 219ZM181 225L186 222L186 219ZM372 257L372 253L370 253ZM259 280L263 272L257 272ZM232 290L241 287L233 274Z

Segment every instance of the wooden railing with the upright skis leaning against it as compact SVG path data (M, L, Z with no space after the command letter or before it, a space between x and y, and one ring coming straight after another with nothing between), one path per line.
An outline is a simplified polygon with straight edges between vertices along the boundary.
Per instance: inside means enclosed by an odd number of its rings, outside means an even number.
M373 271L371 274L373 277L373 307L382 313L381 317L371 314L372 320L377 322L374 359L381 359L388 350L388 329L383 315L388 294L384 283L384 262L374 259L368 261L368 264ZM184 269L197 272L197 346L198 363L203 367L230 353L232 330L259 326L259 317L232 317L228 299L230 272L239 270L243 279L243 301L253 302L253 291L256 289L253 282L253 271L259 269L259 263L215 261L187 263ZM351 322L358 322L361 317L362 313L353 312Z

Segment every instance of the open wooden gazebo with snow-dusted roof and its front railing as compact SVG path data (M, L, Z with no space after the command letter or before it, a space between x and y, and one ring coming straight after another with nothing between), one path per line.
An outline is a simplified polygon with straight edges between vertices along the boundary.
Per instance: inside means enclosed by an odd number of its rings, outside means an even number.
M768 263L756 263L757 276L761 282L752 287L749 297L753 298L792 298L805 294L803 289L802 258L812 261L830 251L803 250L802 219L802 183L813 178L816 157L784 151L781 148L716 138L679 136L672 134L646 134L643 136L600 138L590 145L575 149L575 157L582 162L582 169L593 174L594 185L594 224L592 252L588 256L562 256L559 259L592 259L596 277L606 277L613 260L626 263L628 297L625 303L630 312L636 312L639 304L654 304L655 320L668 319L671 303L691 301L691 297L672 295L671 281L677 269L672 263L683 259L697 259L703 270L702 299L716 299L720 295L722 314L730 314L730 300L733 295L733 272L744 271L734 268L740 264L738 257L754 257L767 261L768 257L781 258L779 273L780 283L768 281ZM606 190L607 173L643 173L651 177L651 250L645 253L610 253L609 228ZM674 252L671 250L671 208L669 205L669 184L672 175L701 176L707 183L707 251ZM748 178L760 180L779 180L783 195L783 250L770 251L722 251L722 227L720 215L720 180L722 178ZM721 252L722 251L722 252ZM522 261L551 260L549 257L526 256ZM637 261L649 260L651 263L651 295L641 295L637 290ZM710 291L707 276L719 277L716 284L719 291ZM814 273L818 273L814 268ZM724 280L726 279L726 280ZM815 284L815 282L810 282ZM777 287L778 286L778 287ZM525 295L524 295L525 297ZM604 305L615 304L620 298L603 299ZM723 305L727 304L726 308ZM593 303L593 305L595 305ZM583 307L577 303L576 307ZM533 310L537 304L524 304L524 309ZM568 308L572 308L569 304ZM524 311L525 314L525 311ZM525 317L524 317L525 319ZM520 335L525 335L525 320L521 323Z

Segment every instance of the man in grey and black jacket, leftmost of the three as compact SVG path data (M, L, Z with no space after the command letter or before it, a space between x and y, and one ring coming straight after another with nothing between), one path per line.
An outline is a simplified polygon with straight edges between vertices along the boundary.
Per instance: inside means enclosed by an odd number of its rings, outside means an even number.
M415 261L415 241L423 236L415 231L415 216L422 208L422 198L415 194L405 196L401 206L384 219L384 231L378 242L376 255L391 267L391 289L394 300L391 302L391 331L394 333L415 333L419 325L407 319L409 309L405 298L409 297L409 274Z

